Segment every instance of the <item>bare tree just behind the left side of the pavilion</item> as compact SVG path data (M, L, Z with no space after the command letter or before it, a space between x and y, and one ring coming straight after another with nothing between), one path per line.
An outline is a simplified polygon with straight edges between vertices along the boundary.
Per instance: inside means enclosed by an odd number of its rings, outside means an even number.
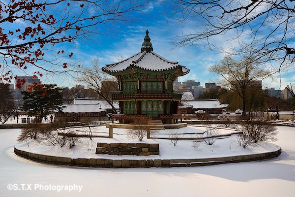
M112 91L118 91L117 79L101 70L98 58L95 58L92 63L91 68L85 68L77 73L76 80L94 90L100 98L105 99L112 106L113 113L117 113L111 96Z

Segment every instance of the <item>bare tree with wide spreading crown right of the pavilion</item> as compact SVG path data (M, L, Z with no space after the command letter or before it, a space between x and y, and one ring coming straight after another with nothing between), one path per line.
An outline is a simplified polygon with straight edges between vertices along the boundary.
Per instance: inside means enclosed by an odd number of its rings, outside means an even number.
M222 86L230 88L243 102L243 119L246 118L246 97L253 86L260 86L256 82L271 77L271 72L253 62L252 59L235 61L231 57L225 57L219 64L210 68L222 77L219 80Z

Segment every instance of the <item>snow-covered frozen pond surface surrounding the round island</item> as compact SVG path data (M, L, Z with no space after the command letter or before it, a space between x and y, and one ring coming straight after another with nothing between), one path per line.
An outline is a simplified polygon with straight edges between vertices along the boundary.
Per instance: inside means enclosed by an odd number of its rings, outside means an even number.
M278 158L200 167L126 169L32 162L13 153L20 130L0 130L0 197L293 197L295 129L278 130L275 144L282 147Z

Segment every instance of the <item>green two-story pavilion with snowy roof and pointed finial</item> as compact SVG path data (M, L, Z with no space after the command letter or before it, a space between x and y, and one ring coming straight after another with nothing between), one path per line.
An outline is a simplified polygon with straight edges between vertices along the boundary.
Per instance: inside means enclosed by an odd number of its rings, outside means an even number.
M102 68L119 82L120 91L113 92L112 99L119 102L120 114L113 117L121 123L139 116L173 123L181 117L177 114L181 93L173 91L172 83L178 76L189 73L189 69L153 52L146 33L141 52Z

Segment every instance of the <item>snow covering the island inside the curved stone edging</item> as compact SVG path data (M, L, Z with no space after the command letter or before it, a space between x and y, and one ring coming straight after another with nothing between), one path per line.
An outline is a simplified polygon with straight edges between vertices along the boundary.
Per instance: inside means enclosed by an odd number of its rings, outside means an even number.
M77 132L78 134L89 133L89 128L72 128L70 131ZM183 138L197 138L203 136L199 133L204 133L206 131L205 127L202 126L188 126L178 130L159 130L156 137L166 137L169 135L167 133L177 132ZM237 133L235 130L228 129L218 129L220 134L231 134ZM108 136L109 128L105 126L91 127L92 135ZM197 134L195 134L197 133ZM206 136L206 135L204 135ZM205 142L200 142L199 148L195 149L193 147L192 140L179 140L177 141L177 146L174 146L169 139L143 139L142 143L159 143L160 155L152 156L116 156L116 155L98 155L95 154L96 144L99 143L140 143L138 139L128 139L125 129L113 129L113 138L105 137L93 137L94 145L91 151L89 149L89 138L81 138L78 143L73 148L65 145L62 148L60 146L48 146L44 143L31 141L17 143L15 147L19 150L42 154L42 155L53 155L58 157L69 157L69 158L104 158L113 160L146 160L146 159L203 159L203 158L216 158L216 157L230 157L237 155L250 155L265 152L274 152L280 149L279 146L272 143L259 143L256 147L243 148L240 146L236 140L236 134L232 136L222 137L222 139L217 139L212 145L207 145ZM29 143L29 146L28 146Z

